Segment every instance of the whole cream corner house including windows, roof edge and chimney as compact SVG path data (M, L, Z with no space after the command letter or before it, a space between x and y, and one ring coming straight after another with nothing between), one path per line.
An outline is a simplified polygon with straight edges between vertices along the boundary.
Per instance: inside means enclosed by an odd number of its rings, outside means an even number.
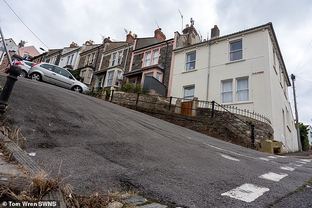
M208 41L175 47L171 96L259 113L271 120L283 150L297 151L291 84L272 23L221 37L218 31Z

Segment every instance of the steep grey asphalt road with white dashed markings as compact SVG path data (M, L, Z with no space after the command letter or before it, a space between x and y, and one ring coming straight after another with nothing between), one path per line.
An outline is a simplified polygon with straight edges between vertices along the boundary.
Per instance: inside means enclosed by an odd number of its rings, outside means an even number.
M263 208L312 177L311 160L242 148L24 78L6 116L21 127L34 160L54 175L62 163L61 175L70 176L65 181L76 193L132 186L182 207Z

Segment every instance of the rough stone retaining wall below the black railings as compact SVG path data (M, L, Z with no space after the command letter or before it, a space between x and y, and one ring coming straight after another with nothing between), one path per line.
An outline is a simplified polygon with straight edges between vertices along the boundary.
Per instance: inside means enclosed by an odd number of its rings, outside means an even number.
M152 93L156 94L155 92ZM215 117L211 118L211 109L203 108L196 108L196 111L192 111L192 116L187 116L179 114L180 108L175 107L174 105L170 108L169 111L169 101L166 98L139 95L140 101L137 103L137 105L136 100L137 94L115 92L113 103L246 148L251 148L251 127L242 122L240 119L244 120L245 122L253 122L253 124L255 124L254 134L256 146L258 149L260 148L260 142L262 140L273 140L273 129L270 125L258 120L252 120L249 117L236 115L239 118L238 119L228 112L215 111ZM195 113L193 113L194 111ZM230 123L232 123L235 127L240 129L248 136L237 130L221 117L227 119Z

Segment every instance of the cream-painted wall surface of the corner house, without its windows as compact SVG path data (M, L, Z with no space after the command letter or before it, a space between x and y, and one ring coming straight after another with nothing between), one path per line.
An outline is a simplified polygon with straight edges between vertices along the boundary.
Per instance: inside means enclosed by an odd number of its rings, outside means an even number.
M195 86L195 97L199 100L215 100L221 104L221 81L233 81L233 102L228 105L246 109L268 117L274 129L274 139L283 142L284 151L297 151L298 140L294 119L289 104L286 80L273 68L273 44L269 30L236 34L219 39L211 45L210 67L209 46L206 43L188 47L175 53L171 96L183 97L184 86ZM229 61L229 43L243 40L243 59ZM196 51L195 69L185 71L187 53ZM278 50L276 49L276 54ZM207 97L207 80L209 88ZM249 101L236 101L236 79L249 78ZM284 112L284 114L282 113Z

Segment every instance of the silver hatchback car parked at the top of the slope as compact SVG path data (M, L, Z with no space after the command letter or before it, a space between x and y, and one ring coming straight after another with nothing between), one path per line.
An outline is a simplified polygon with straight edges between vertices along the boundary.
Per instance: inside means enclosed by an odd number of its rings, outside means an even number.
M33 64L29 75L34 81L51 83L84 94L90 93L90 88L77 81L69 71L57 65L45 62Z

